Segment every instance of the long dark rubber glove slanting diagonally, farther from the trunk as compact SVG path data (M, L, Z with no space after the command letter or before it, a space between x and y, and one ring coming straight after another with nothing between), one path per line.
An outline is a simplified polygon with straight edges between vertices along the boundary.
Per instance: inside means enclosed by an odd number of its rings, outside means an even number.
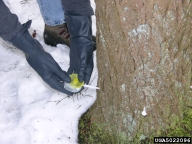
M70 82L70 77L47 53L42 45L31 37L28 32L32 21L23 24L23 28L10 42L25 53L29 65L41 76L41 78L53 89L68 95L72 92L64 89L63 81Z

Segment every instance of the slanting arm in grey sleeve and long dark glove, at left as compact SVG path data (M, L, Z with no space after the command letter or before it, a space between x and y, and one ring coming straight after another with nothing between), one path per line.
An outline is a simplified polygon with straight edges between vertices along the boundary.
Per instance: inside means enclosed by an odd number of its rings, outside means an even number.
M3 17L1 14L6 15ZM10 18L14 20L13 24L11 24ZM32 38L28 32L30 25L31 21L21 25L17 16L12 14L5 4L0 1L0 37L22 50L29 65L50 87L65 94L73 95L72 92L64 89L63 85L64 82L71 81L70 77L60 68L52 56L43 49L39 41Z

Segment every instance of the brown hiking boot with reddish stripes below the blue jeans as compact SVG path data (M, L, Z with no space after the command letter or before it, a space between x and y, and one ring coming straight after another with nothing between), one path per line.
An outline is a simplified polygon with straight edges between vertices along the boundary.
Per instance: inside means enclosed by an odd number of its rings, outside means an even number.
M65 44L70 47L70 34L66 23L58 26L49 26L45 24L43 33L44 42L47 45L56 46ZM92 36L93 50L96 50L96 37Z

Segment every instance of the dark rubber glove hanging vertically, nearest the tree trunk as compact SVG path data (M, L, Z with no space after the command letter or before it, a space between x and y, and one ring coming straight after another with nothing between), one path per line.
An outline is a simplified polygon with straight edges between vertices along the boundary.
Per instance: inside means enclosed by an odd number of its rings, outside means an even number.
M89 83L93 71L91 16L65 13L70 33L70 67L68 74L77 73L80 82Z

